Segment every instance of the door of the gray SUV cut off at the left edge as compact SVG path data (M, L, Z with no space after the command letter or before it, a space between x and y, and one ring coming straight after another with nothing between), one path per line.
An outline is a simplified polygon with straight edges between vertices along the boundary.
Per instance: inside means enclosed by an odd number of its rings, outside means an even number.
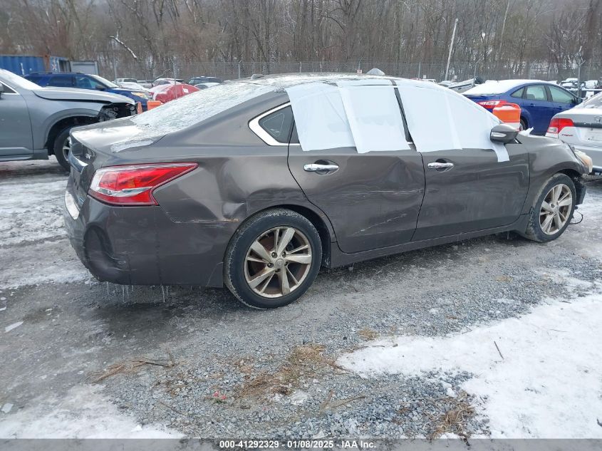
M4 85L0 94L0 157L32 155L29 110L21 94Z

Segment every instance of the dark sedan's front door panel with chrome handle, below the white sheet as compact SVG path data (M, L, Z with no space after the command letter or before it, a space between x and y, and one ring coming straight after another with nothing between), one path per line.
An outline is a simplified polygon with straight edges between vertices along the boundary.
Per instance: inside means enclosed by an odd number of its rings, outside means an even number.
M493 150L460 149L422 153L426 192L413 241L512 224L529 189L529 155L506 145L509 161ZM436 163L449 167L437 168Z

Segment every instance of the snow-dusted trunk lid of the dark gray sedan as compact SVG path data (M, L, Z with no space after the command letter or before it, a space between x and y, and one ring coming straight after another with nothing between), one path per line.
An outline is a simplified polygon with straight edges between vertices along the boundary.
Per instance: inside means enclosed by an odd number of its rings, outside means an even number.
M71 135L90 150L105 154L146 147L163 137L153 133L144 125L137 125L131 118L108 120L73 128Z

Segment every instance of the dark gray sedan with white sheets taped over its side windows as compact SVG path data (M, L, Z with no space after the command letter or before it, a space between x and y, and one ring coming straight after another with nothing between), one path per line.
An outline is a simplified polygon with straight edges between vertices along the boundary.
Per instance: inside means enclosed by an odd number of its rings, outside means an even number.
M498 232L559 237L588 172L435 83L224 83L71 133L65 219L100 281L224 284L284 306L321 266Z

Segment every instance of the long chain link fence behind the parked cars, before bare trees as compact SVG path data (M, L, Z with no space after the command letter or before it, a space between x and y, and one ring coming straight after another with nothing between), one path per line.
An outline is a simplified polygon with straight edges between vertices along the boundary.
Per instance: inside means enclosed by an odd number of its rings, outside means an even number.
M152 65L123 58L122 55L100 55L101 75L107 78L137 78L148 80L158 77L182 78L185 81L194 76L213 76L223 80L244 78L254 73L264 75L273 73L339 72L363 73L371 68L379 68L389 76L403 78L428 78L436 81L446 79L446 61L423 62L401 60L358 61L208 61L180 62L172 58L165 63ZM152 68L149 68L152 67ZM602 78L602 62L586 62L581 66L581 80ZM447 71L447 80L462 81L479 76L484 79L502 80L506 78L531 78L559 81L578 76L578 68L559 65L546 61L527 63L452 61Z

